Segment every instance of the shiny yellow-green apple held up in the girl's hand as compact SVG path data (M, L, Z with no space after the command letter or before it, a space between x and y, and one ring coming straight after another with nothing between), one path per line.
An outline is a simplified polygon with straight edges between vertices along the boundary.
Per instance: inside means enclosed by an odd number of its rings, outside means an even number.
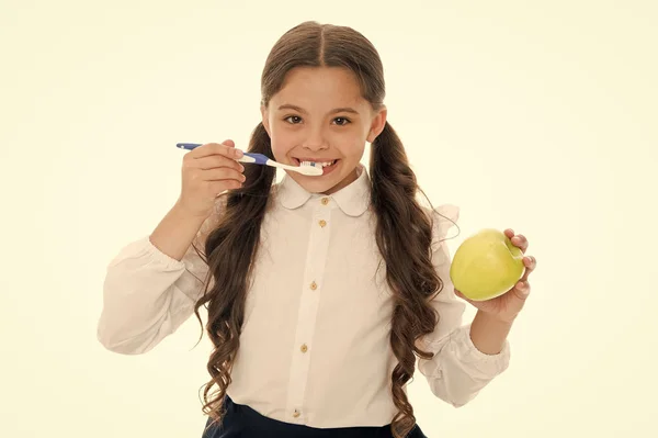
M456 290L473 301L502 295L523 277L523 252L504 233L485 228L465 239L450 267Z

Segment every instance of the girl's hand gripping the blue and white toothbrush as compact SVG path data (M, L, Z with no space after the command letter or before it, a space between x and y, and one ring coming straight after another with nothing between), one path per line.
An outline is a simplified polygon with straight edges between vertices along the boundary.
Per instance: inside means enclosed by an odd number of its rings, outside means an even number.
M178 203L191 215L207 217L217 195L239 189L245 182L245 167L237 160L243 153L230 139L198 145L183 157L182 189Z

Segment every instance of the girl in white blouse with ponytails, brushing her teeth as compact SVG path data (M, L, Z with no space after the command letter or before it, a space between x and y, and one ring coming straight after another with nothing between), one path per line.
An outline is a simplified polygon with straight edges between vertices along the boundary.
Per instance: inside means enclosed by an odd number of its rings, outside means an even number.
M207 308L205 438L424 437L406 389L417 358L454 406L508 367L534 258L513 290L470 302L477 316L462 325L443 244L458 209L417 201L384 94L363 35L292 29L266 59L249 151L321 162L324 175L274 183L273 168L240 165L232 142L205 144L185 154L172 210L109 265L98 336L112 351L149 351Z

